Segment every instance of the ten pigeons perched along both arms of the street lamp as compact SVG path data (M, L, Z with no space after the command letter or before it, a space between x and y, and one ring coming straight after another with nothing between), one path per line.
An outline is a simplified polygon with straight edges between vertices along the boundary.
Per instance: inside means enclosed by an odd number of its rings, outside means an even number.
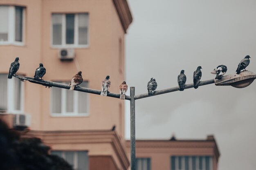
M245 68L250 63L249 58L250 56L247 55L243 60L240 61L236 69L236 74L240 74L240 71L245 70ZM11 63L8 78L11 79L13 75L15 76L19 68L20 68L19 57L16 57L15 61ZM195 89L198 88L200 79L202 77L201 69L202 67L198 66L198 68L193 73L193 84ZM227 66L219 65L216 68L214 68L211 73L216 74L215 79L221 79L226 72L227 72ZM45 75L45 73L46 73L46 69L44 68L43 64L40 63L39 67L36 68L34 79L43 80L42 78ZM82 72L79 71L76 75L73 76L69 84L70 90L71 91L74 90L74 87L79 86L82 82L83 82ZM180 91L184 91L185 84L186 84L186 75L184 74L184 70L182 70L180 72L180 75L178 75L178 86ZM106 79L104 79L101 82L101 95L107 96L109 88L110 88L110 76L107 75ZM147 89L148 89L148 95L153 95L155 93L157 89L157 82L155 81L154 78L151 78L150 81L148 82ZM119 85L120 99L125 99L125 94L127 90L128 90L128 86L126 82L123 82L122 84Z

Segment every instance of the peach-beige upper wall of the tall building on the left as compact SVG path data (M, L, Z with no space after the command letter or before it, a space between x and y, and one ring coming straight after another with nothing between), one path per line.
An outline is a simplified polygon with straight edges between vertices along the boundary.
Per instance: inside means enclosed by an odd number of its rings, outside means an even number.
M124 81L124 59L119 71L119 39L124 57L124 29L112 0L2 0L0 4L26 7L25 46L0 46L0 73L8 73L9 65L20 57L17 74L32 77L42 62L47 70L44 79L70 81L78 71L89 81L89 88L101 89L101 80L110 75L110 92L119 93ZM52 48L52 13L89 13L89 46L75 49L75 61L61 62L58 49ZM77 64L76 64L76 63ZM114 124L124 137L124 101L89 95L88 117L52 117L51 89L25 82L25 113L31 114L33 130L97 130Z

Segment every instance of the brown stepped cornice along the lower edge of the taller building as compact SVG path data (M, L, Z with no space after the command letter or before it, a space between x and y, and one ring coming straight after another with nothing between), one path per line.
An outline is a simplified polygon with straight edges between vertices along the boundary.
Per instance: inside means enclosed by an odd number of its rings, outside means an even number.
M109 143L115 151L122 167L130 166L126 155L126 148L122 144L117 132L112 130L58 130L40 131L31 130L22 137L38 137L47 145L54 144L96 144Z

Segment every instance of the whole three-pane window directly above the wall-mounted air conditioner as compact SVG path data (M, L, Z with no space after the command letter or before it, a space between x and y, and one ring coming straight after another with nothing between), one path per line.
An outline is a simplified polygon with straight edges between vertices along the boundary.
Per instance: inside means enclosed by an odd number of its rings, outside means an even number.
M52 46L88 46L88 13L52 14Z

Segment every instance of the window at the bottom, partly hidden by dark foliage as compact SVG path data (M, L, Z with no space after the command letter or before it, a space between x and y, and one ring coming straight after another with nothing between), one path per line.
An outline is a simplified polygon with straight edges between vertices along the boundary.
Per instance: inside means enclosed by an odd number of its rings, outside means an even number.
M52 150L52 155L58 155L65 159L74 170L89 170L89 159L87 151L57 151Z

